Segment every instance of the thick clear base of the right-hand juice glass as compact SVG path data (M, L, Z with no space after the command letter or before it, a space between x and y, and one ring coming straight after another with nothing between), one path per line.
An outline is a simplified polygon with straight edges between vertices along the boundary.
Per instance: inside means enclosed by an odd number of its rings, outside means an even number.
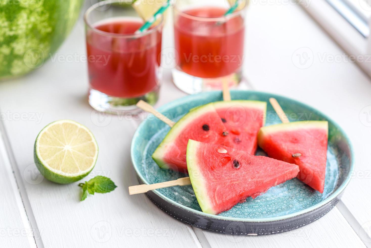
M171 71L174 84L188 94L196 94L202 91L223 89L223 82L227 81L229 88L236 88L242 79L241 70L220 78L199 78L189 75L178 68Z

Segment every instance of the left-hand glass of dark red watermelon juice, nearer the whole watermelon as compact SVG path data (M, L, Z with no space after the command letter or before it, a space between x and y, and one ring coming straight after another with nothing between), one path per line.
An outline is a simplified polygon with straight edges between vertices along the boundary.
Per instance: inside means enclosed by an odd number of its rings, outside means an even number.
M161 82L162 19L144 24L126 1L103 1L84 16L89 104L98 111L135 113L139 100L157 102Z

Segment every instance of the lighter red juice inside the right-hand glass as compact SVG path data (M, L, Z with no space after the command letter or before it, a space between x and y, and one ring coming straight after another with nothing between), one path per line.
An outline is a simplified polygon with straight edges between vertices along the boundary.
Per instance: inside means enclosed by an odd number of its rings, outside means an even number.
M227 9L202 7L179 13L174 24L178 69L200 78L233 74L242 66L244 20L226 21L197 17L222 17Z

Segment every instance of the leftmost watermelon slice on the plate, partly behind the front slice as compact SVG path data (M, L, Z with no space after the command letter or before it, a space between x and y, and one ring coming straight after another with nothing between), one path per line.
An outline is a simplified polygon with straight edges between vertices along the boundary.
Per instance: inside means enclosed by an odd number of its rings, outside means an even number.
M152 158L163 169L187 173L188 139L232 146L227 129L211 103L197 107L175 123Z

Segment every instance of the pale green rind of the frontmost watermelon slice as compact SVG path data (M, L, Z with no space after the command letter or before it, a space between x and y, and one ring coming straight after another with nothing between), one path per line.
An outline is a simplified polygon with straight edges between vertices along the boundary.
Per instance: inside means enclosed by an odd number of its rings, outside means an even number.
M206 183L202 176L202 173L198 169L196 151L198 150L198 144L200 142L194 140L188 140L187 144L187 168L188 174L191 179L194 194L196 195L198 204L201 207L202 212L216 214L213 210L209 197L207 196Z

